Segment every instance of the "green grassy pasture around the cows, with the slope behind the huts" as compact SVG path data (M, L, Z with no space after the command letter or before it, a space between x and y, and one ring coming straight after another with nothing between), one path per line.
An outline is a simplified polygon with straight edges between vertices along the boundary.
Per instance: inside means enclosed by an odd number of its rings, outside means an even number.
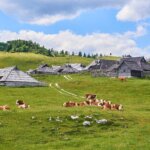
M76 56L69 59L0 53L0 68L17 65L27 71L41 63L57 65L71 61L87 65L92 61ZM150 149L149 79L132 78L121 82L115 78L93 78L89 73L71 74L69 80L64 75L34 77L49 86L0 87L0 105L7 104L11 108L10 111L0 111L1 150ZM122 104L124 111L102 110L94 106L62 106L69 100L83 101L86 93ZM17 108L17 99L28 103L30 109ZM71 115L79 118L72 120ZM96 119L107 119L108 123L97 124ZM85 120L91 125L83 126Z

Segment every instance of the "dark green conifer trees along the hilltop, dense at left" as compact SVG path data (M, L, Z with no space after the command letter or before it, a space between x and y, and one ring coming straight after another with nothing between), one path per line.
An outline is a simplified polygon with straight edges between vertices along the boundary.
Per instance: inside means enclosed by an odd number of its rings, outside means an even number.
M47 49L44 46L40 46L40 44L33 42L31 40L26 41L26 40L12 40L12 41L7 41L7 42L0 42L0 51L4 52L32 52L36 54L42 54L50 57L65 57L68 55L78 55L79 57L88 57L88 58L96 58L96 57L101 57L102 54L86 54L82 53L79 51L78 54L75 54L72 52L71 54L66 51L66 50L55 50L53 48Z

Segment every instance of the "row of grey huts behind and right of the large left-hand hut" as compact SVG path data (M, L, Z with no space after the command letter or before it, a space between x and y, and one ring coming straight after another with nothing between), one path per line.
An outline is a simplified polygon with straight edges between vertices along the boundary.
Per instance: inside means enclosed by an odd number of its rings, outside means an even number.
M120 60L94 60L88 66L82 64L65 64L63 66L41 65L29 74L71 74L91 72L94 77L144 77L150 75L150 63L144 57L124 57Z

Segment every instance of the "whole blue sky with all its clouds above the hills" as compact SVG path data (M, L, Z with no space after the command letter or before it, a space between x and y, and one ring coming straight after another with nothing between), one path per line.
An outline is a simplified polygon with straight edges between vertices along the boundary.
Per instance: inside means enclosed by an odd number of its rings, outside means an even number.
M0 42L150 57L150 0L0 0Z

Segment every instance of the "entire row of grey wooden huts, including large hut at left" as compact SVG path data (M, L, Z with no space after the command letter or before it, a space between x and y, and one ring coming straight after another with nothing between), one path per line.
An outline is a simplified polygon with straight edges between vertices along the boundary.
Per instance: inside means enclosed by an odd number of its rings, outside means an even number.
M82 64L65 64L62 66L40 65L27 73L19 70L16 66L0 69L0 85L6 86L43 86L30 74L72 74L91 72L94 77L144 77L150 76L150 63L144 57L124 57L116 60L94 60L88 66Z

